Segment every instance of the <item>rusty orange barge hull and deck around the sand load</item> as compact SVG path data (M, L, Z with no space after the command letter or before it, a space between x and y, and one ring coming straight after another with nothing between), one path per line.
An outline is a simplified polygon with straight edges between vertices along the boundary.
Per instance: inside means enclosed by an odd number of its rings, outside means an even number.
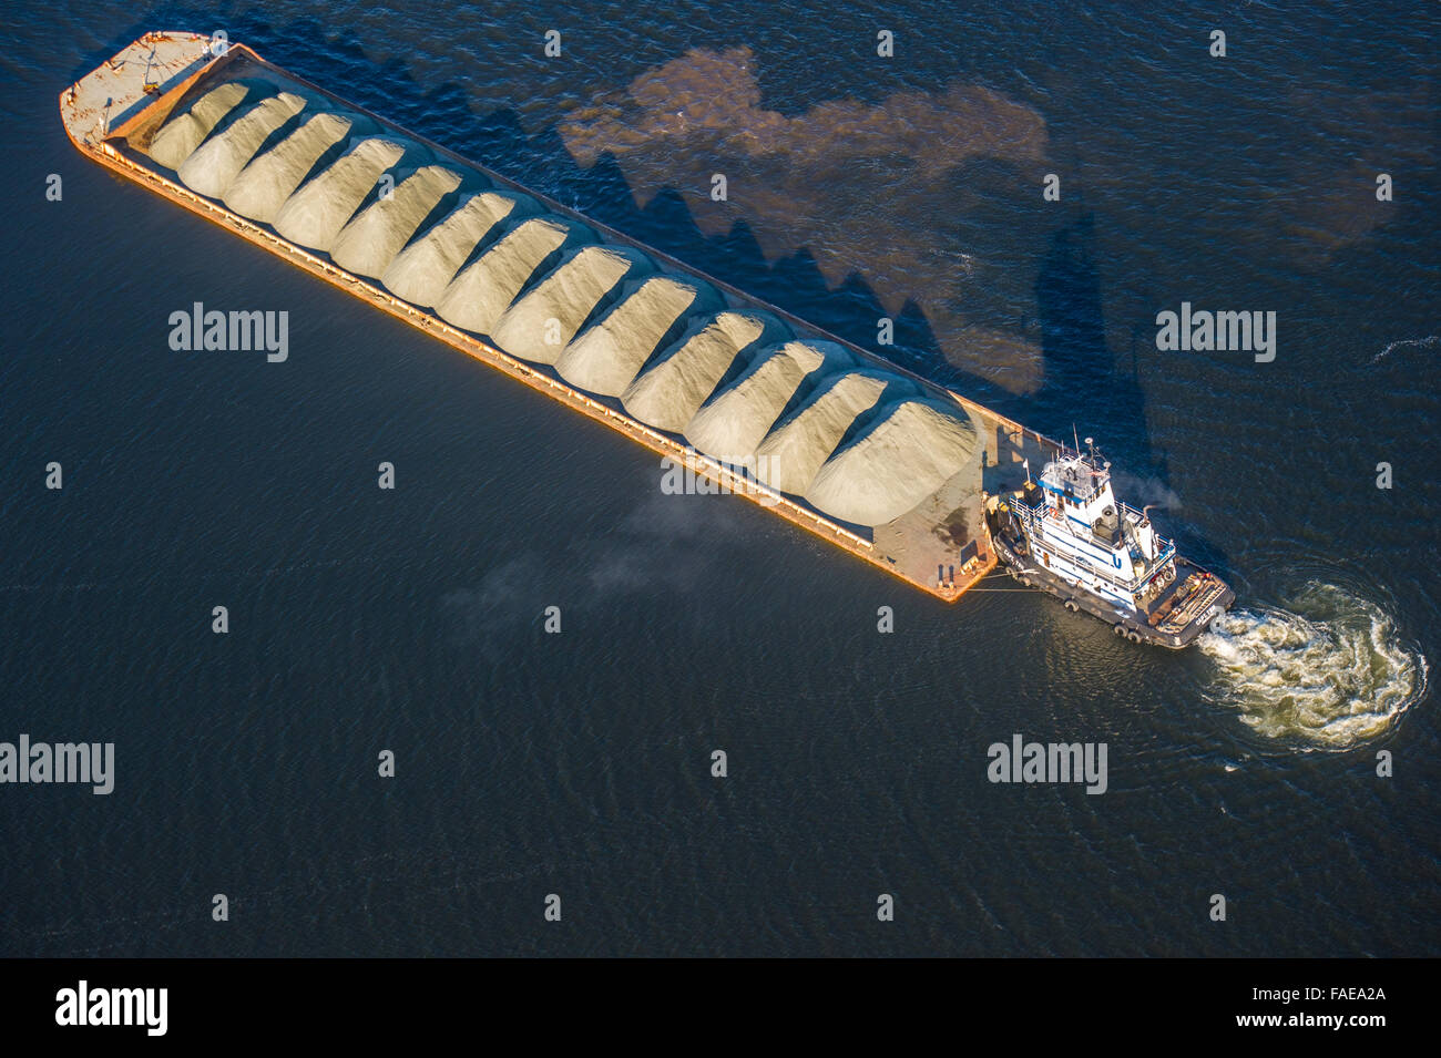
M205 35L179 32L147 33L135 40L61 94L61 115L66 135L81 153L118 176L226 227L242 239L262 246L372 307L494 367L507 377L624 433L638 445L692 466L697 475L715 481L722 489L759 504L793 525L942 602L955 602L996 567L997 553L984 514L986 498L1019 488L1023 479L1023 462L1029 459L1030 462L1039 461L1036 465L1043 464L1061 449L1056 442L280 69L244 45L232 43L222 55L215 55L210 45L210 37ZM922 501L909 514L896 518L895 523L875 527L872 537L866 538L863 533L826 517L804 501L769 489L758 484L755 478L738 474L729 465L695 451L676 436L637 420L612 403L578 390L552 371L519 360L490 341L396 298L378 282L337 266L327 255L298 246L271 227L251 222L223 204L189 190L133 150L135 143L147 145L148 138L183 101L193 98L199 89L222 81L223 72L236 63L249 63L248 69L265 71L281 82L297 85L305 92L333 101L344 111L362 114L375 121L379 128L422 144L434 151L437 158L451 160L483 174L497 189L510 189L526 194L556 214L585 225L598 232L608 243L640 249L656 262L663 263L667 271L693 276L722 291L731 305L771 312L791 325L798 338L816 337L837 343L855 354L863 369L875 366L892 374L905 376L925 396L950 402L973 423L978 425L981 436L978 466L974 468L974 472L965 472L948 481L927 501ZM976 547L970 548L974 557L958 563L960 543L964 541L974 541ZM935 571L938 566L947 564L947 559L950 559L953 569L955 564L960 564L961 569L955 570L954 580L937 580Z

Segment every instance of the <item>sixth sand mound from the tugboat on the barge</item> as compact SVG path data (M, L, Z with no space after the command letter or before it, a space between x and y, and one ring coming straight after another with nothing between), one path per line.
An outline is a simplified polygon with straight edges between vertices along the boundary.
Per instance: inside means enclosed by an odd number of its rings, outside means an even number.
M512 356L553 364L591 315L621 284L654 271L650 258L628 246L582 246L525 294L496 324L496 344Z

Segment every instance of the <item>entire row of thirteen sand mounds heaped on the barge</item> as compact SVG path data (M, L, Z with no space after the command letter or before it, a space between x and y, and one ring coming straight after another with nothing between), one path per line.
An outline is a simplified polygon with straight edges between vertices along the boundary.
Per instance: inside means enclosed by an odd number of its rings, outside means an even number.
M708 284L657 275L643 252L599 245L533 199L480 190L478 174L324 107L264 83L220 85L156 132L150 157L840 521L895 521L978 459L971 419L915 383L856 370L840 345L795 341L767 312L726 309ZM380 197L385 174L396 183Z

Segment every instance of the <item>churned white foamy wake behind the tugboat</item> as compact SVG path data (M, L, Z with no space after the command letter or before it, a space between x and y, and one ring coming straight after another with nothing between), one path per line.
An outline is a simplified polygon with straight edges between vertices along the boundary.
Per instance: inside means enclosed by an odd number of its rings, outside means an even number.
M1427 659L1375 603L1311 583L1297 612L1238 609L1197 641L1213 694L1252 730L1304 750L1344 750L1389 730L1422 697Z

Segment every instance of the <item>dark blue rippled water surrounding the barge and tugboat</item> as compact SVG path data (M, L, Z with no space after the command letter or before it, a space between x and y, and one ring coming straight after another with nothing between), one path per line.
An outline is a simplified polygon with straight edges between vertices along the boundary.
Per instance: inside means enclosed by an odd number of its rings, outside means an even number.
M1437 9L976 7L9 12L0 740L118 774L0 786L0 953L1437 954ZM68 144L65 85L222 27L846 337L891 315L905 366L1094 435L1236 616L1137 649L661 495ZM193 301L288 311L290 360L171 351ZM1275 361L1157 351L1182 301L1275 311ZM989 783L1013 733L1105 741L1108 792Z

